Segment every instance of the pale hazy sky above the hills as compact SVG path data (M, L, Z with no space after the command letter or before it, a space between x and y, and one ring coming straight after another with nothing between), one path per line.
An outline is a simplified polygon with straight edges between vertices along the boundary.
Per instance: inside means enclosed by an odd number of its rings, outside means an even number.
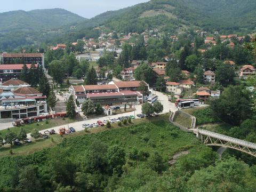
M149 0L9 0L1 3L0 12L34 9L62 8L85 18L92 18L106 11L118 10Z

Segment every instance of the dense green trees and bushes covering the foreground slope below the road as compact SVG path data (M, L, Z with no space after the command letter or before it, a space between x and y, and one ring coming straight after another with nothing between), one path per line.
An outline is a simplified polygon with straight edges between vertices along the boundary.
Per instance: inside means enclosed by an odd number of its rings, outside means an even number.
M166 120L63 139L35 154L0 158L0 190L254 191L255 166L233 157L219 159L193 134ZM186 155L171 165L178 151Z

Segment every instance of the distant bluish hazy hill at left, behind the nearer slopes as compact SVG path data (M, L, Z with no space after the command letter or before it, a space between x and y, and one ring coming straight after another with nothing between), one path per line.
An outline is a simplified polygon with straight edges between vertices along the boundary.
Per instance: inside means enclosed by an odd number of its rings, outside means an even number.
M0 32L46 29L83 20L83 17L63 9L10 11L0 13Z

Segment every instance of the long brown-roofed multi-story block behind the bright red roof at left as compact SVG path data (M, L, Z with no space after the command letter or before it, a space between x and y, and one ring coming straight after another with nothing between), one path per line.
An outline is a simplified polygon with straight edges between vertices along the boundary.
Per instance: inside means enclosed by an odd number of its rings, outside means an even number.
M0 54L0 64L39 64L44 69L44 53L2 53Z

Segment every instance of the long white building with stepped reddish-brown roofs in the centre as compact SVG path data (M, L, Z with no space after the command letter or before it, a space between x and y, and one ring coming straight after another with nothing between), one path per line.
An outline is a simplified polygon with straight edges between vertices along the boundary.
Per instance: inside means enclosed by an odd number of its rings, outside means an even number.
M141 81L127 81L110 82L107 85L72 85L67 97L73 94L79 103L91 99L94 103L100 102L101 105L133 105L143 101L143 95L139 91L140 83Z

